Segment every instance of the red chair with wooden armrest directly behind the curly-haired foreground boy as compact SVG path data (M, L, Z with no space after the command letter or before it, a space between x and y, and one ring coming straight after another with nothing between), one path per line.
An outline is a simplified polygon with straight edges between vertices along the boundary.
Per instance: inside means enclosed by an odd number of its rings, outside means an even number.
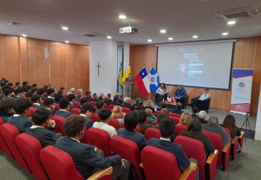
M51 180L84 180L76 170L73 158L59 148L47 146L41 150L40 158ZM108 167L95 172L89 179L99 179L111 173L112 167Z

